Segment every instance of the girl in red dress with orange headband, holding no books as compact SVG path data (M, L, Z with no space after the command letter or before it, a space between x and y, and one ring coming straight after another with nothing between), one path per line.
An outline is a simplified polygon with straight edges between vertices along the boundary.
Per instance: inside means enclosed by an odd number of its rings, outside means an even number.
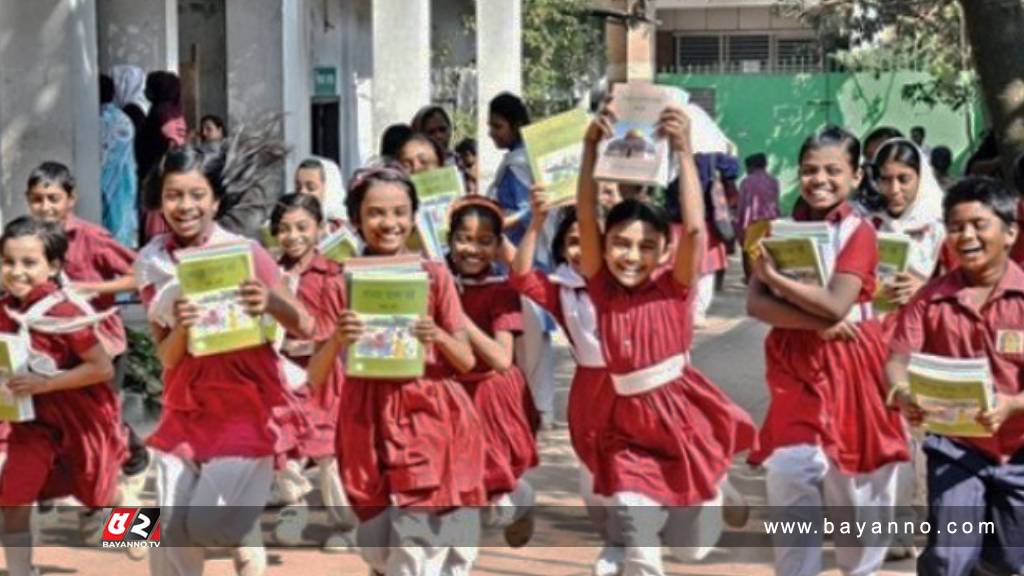
M476 367L458 380L476 405L486 441L483 486L492 507L483 524L504 527L506 541L518 547L532 534L534 489L522 476L538 463L534 433L539 415L514 363L515 338L522 334L519 294L494 271L502 217L501 207L482 197L454 205L449 265L476 355Z

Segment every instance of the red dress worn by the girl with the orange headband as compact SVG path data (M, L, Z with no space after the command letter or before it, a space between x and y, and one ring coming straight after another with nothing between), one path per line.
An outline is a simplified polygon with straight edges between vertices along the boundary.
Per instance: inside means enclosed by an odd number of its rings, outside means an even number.
M458 287L463 311L480 330L492 337L499 331L522 333L519 294L506 279L460 280ZM487 498L512 492L539 461L534 433L540 415L526 378L514 364L499 372L477 356L473 370L457 379L473 399L483 425Z

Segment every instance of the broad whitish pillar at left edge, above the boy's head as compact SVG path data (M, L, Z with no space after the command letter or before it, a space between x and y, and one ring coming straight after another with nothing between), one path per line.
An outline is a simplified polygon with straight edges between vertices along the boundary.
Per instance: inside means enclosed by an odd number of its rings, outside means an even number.
M80 215L100 219L94 0L0 0L0 219L26 213L25 182L67 164Z

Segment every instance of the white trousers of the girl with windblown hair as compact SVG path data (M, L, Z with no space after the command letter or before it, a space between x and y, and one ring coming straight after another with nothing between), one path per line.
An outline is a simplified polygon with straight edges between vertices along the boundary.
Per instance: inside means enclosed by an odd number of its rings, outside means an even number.
M259 517L270 495L273 460L214 458L197 464L155 452L161 541L153 576L201 576L206 547L261 546Z

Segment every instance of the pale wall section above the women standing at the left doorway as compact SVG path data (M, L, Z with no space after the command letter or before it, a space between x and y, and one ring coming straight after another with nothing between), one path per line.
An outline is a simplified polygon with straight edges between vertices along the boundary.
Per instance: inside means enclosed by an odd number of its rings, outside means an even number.
M178 71L177 0L95 0L99 68Z

